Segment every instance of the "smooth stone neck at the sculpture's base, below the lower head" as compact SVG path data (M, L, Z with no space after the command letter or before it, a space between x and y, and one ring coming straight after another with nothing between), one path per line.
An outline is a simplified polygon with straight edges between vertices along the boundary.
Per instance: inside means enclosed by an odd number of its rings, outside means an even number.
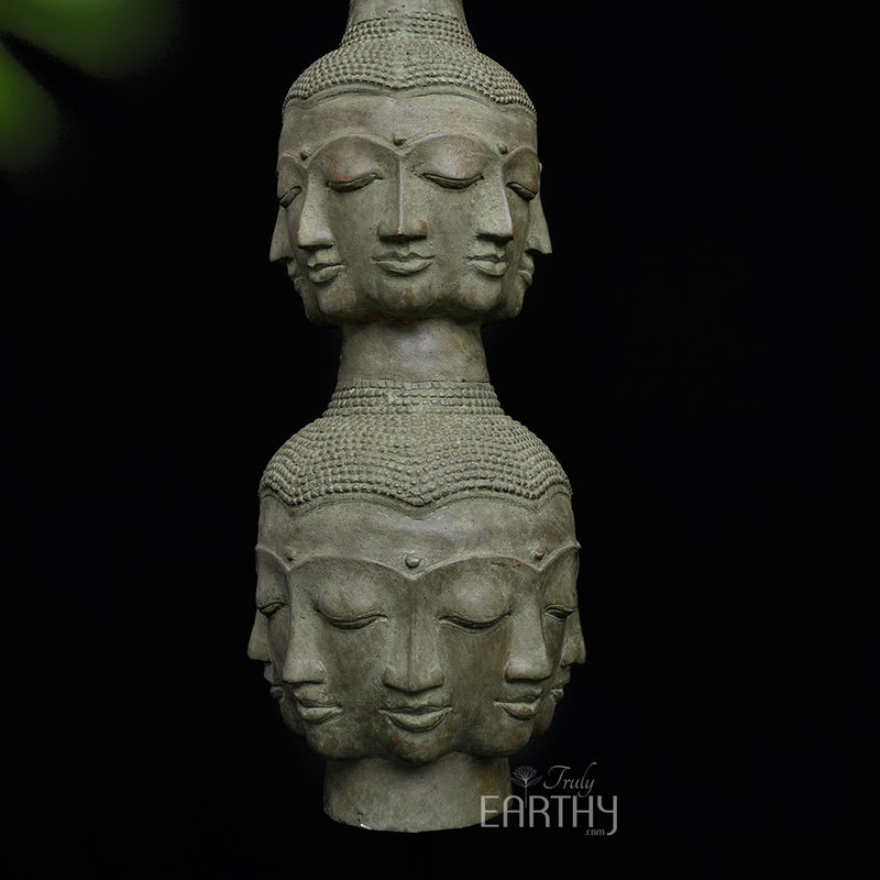
M451 752L413 767L381 758L327 762L323 809L372 831L464 828L492 818L510 795L507 758Z

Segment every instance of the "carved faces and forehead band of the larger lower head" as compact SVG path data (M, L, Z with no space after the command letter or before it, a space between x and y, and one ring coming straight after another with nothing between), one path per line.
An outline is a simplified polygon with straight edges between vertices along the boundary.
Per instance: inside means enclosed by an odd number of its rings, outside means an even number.
M562 496L540 515L469 499L424 518L264 499L257 606L309 744L413 763L521 748L575 612L573 540Z

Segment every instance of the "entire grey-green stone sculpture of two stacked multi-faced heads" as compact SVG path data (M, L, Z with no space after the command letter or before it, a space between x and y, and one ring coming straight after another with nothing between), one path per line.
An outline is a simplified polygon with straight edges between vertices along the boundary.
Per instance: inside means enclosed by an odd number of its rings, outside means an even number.
M460 0L352 0L277 172L271 256L342 350L261 481L250 656L327 758L330 816L473 824L584 659L571 487L481 339L550 250L535 110Z

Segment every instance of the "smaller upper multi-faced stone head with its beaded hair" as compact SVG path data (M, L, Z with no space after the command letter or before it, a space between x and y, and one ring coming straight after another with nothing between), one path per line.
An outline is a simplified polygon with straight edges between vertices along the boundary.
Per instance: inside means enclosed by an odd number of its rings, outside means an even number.
M461 0L353 0L284 102L271 258L307 316L516 316L550 251L535 108Z

